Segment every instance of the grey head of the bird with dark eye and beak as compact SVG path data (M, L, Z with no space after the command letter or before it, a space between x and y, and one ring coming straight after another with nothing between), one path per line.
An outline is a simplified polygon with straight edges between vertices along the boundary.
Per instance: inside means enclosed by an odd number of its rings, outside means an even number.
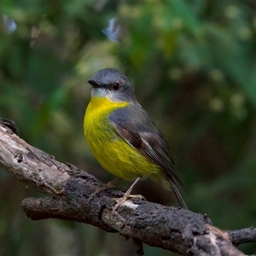
M137 102L128 78L113 68L98 71L88 83L91 97L108 97L112 102Z

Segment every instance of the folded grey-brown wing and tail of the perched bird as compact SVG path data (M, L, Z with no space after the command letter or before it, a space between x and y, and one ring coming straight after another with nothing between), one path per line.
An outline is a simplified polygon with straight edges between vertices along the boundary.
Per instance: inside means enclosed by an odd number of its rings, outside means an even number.
M155 128L143 108L136 108L136 113L133 111L131 107L121 108L110 116L110 121L120 137L162 167L179 205L187 208L177 189L177 183L183 183L177 177L174 161L164 137Z

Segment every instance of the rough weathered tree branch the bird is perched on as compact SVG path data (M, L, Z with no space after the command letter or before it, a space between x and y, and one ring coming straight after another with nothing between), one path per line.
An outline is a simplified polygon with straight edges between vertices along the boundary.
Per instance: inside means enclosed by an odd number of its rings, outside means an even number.
M20 181L48 195L22 202L26 215L33 220L62 218L119 232L133 239L139 255L143 254L142 242L183 255L236 256L244 254L235 245L256 241L255 228L219 230L206 215L148 201L125 201L113 213L113 197L123 192L107 189L90 200L102 182L32 147L16 131L14 124L0 119L0 164Z

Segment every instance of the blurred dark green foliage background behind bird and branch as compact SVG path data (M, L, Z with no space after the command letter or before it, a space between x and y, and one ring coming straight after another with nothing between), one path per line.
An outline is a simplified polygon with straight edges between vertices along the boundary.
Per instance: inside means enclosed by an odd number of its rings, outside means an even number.
M27 143L113 179L90 153L83 118L87 80L117 68L166 137L189 209L221 229L256 225L255 2L9 0L0 7L0 116L14 120ZM133 193L177 206L150 180ZM32 195L44 196L0 170L1 255L136 255L117 234L26 218L20 203ZM256 252L253 244L240 248Z

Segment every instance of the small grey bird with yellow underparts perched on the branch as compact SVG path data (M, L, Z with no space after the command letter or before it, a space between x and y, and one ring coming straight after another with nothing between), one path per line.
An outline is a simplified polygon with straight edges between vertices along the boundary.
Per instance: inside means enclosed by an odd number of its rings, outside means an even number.
M114 176L134 181L119 199L129 197L141 177L151 177L172 189L180 207L187 209L177 184L182 185L160 131L137 102L128 78L113 68L98 71L91 80L91 99L84 115L84 136L101 166Z

